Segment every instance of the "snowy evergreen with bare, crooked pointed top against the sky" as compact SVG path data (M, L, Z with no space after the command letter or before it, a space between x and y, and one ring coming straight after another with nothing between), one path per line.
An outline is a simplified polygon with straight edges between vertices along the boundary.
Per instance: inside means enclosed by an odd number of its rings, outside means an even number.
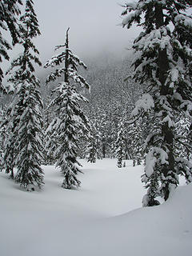
M50 106L54 106L55 116L50 123L48 133L50 138L54 137L54 158L57 159L56 166L60 167L64 174L62 187L71 189L73 186L80 186L78 173L81 172L78 166L78 138L90 130L90 124L86 115L82 112L80 102L87 102L82 94L78 93L77 85L89 89L89 85L82 76L78 75L78 66L86 68L85 64L75 56L69 48L69 36L66 31L66 42L62 46L56 46L56 50L64 48L61 54L52 57L46 62L45 67L60 66L64 62L64 67L54 70L46 82L55 81L59 77L64 77L54 93L56 94ZM56 146L55 146L56 145Z

